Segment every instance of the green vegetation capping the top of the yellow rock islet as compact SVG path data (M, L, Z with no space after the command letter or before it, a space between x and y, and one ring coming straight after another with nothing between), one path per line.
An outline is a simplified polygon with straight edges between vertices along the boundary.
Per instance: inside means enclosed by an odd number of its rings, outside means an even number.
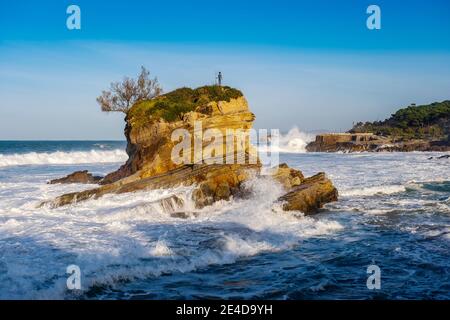
M183 114L212 101L227 101L242 97L242 92L226 86L204 86L197 89L180 88L151 100L136 103L127 119L139 126L149 119L168 122L181 120Z

